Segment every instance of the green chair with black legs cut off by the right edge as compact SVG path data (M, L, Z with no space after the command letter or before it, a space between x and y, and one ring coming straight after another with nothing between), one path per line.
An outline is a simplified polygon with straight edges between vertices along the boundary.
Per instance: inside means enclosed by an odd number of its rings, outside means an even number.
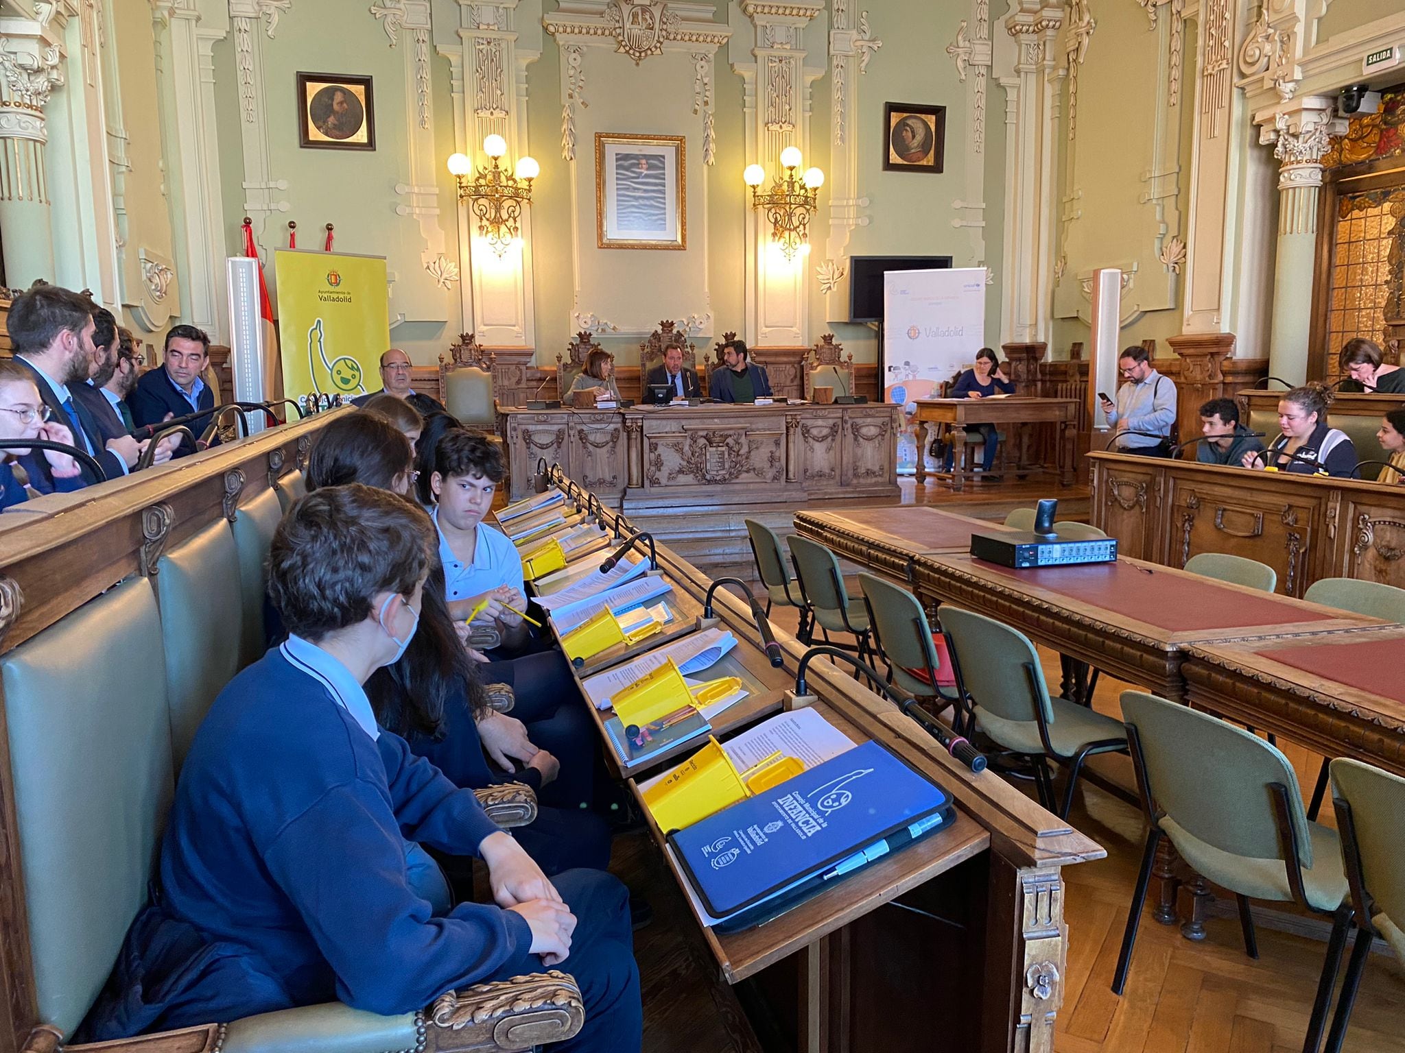
M1356 943L1342 980L1326 1053L1338 1053L1352 1019L1371 941L1381 936L1405 962L1405 779L1361 761L1332 761L1332 806L1342 835L1346 878L1352 887Z

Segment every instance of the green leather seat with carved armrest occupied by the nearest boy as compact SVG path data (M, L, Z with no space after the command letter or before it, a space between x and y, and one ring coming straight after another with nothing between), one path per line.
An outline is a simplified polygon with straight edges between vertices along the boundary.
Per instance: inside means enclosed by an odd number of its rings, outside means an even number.
M176 567L188 570L219 549L198 534L157 577ZM221 557L233 562L232 552ZM197 576L192 571L191 578ZM73 1033L107 981L156 865L176 782L162 642L152 583L139 577L0 658L18 816L18 840L10 851L24 875L38 1015L59 1040ZM524 1050L570 1038L582 1021L575 981L548 973L451 991L424 1012L399 1016L333 1002L218 1021L228 1025L218 1047L223 1053ZM125 1047L177 1046L169 1036L152 1036Z

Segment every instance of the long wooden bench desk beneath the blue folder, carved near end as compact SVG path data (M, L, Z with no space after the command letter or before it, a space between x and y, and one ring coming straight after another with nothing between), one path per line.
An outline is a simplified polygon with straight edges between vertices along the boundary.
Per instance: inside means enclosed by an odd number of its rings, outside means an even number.
M710 578L666 546L659 566L676 591L707 591ZM728 657L757 678L794 678L805 651L794 636L776 633L785 667L773 670L738 597L719 590L714 612L739 642ZM750 980L798 1049L930 1050L940 977L943 1002L962 1007L943 1018L944 1047L1052 1053L1066 972L1061 868L1103 849L999 776L955 764L842 668L816 661L806 680L826 719L936 779L958 819L759 928L728 935L698 920L722 976ZM651 823L649 833L666 854L663 831Z

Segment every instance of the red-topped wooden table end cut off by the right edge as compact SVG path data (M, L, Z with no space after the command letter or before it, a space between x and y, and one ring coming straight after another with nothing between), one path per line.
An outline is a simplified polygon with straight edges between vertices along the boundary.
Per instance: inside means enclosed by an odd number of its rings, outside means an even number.
M1324 757L1405 775L1405 628L1311 640L1196 644L1191 705L1274 731Z

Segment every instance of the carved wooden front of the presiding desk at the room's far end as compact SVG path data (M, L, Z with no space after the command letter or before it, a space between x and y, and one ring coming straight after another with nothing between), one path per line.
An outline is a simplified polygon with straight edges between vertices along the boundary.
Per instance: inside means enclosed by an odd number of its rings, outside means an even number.
M510 500L537 461L625 511L898 496L902 410L864 406L634 406L499 411Z

